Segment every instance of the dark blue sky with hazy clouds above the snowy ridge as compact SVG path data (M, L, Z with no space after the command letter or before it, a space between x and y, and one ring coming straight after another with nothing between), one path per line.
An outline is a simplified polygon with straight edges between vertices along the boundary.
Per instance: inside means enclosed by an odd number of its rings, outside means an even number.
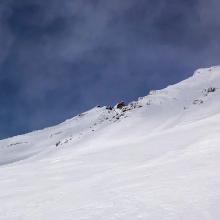
M219 0L1 0L0 139L213 65Z

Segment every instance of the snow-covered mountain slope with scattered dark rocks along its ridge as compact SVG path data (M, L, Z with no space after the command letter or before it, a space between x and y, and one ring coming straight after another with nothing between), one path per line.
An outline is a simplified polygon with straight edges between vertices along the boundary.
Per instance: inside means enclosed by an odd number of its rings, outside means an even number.
M220 67L0 141L0 220L41 219L219 220Z

